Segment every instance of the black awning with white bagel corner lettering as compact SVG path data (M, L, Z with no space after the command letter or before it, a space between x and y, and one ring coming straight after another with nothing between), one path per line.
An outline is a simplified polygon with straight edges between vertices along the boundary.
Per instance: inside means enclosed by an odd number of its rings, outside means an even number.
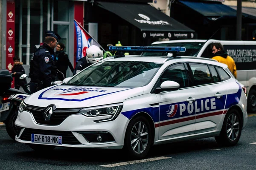
M147 31L150 32L150 37L195 38L194 30L149 4L97 1L97 5L139 28L143 32L143 37Z

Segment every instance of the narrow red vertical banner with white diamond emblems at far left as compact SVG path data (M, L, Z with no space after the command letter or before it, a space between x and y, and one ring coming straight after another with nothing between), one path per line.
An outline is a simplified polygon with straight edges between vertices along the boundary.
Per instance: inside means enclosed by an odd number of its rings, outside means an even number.
M6 69L11 72L12 58L15 56L15 0L7 0L6 12ZM12 82L13 87L14 83Z

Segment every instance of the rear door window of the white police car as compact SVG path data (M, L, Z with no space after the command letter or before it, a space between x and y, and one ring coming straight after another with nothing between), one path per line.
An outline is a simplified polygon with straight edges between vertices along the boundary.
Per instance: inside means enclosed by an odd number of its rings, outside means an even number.
M206 64L189 63L194 77L194 86L212 83L212 77Z

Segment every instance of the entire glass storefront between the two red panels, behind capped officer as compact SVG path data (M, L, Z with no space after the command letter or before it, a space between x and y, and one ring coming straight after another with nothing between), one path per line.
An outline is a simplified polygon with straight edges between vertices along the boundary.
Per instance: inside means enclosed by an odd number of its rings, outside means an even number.
M29 65L35 47L38 48L44 42L46 30L55 31L61 36L61 42L65 44L64 50L67 53L70 24L69 4L68 0L20 0L15 2L15 55L20 57L24 65Z

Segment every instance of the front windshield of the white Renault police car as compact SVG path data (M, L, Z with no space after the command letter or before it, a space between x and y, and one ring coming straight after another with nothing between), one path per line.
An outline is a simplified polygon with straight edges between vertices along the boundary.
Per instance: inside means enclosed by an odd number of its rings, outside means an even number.
M105 61L76 74L66 85L100 87L142 87L163 64L139 61Z

